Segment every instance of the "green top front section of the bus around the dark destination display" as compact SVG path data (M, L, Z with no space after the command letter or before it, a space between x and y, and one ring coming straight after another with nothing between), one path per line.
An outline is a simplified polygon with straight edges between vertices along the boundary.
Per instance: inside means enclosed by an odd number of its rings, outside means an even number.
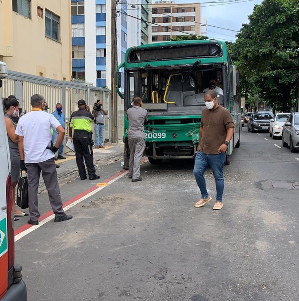
M195 47L196 45L198 45L198 47ZM214 55L213 52L211 52L212 54L210 54L210 52L207 52L209 51L208 47L212 47L211 45L214 45L215 49L213 50L216 52L216 47L218 47L218 52L216 55ZM177 48L173 49L174 46L177 46ZM186 51L179 51L181 48L180 46L185 46L186 48L188 48L188 50L186 49ZM191 50L191 52L189 51L189 49ZM203 55L200 54L201 51L199 49L202 49L202 53L204 53ZM134 56L135 53L137 54L137 56ZM188 54L190 53L193 54L191 56L188 56ZM201 64L227 63L226 43L222 41L207 39L159 42L133 46L127 49L124 68L161 67L182 64L186 65L194 64L194 62L196 62L198 59L200 59Z

